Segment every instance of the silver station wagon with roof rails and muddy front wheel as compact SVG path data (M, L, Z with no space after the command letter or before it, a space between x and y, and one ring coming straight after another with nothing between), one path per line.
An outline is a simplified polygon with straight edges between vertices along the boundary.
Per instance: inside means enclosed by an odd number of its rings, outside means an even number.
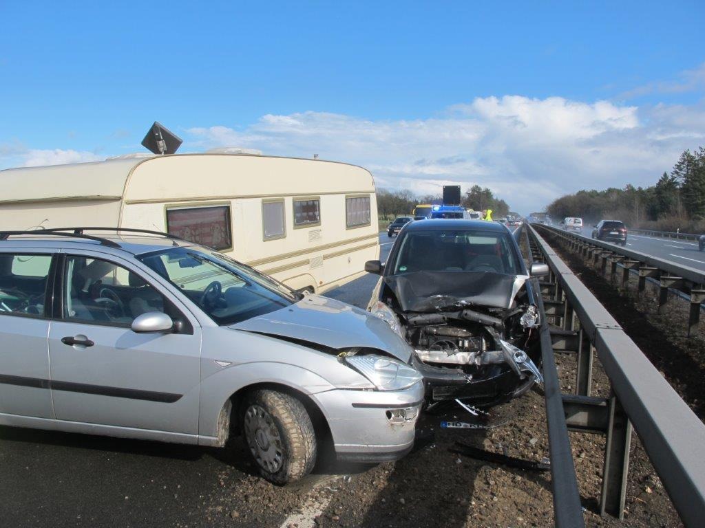
M342 460L400 458L424 399L386 322L144 230L0 232L0 339L0 425L202 446L239 433L279 484L329 440Z

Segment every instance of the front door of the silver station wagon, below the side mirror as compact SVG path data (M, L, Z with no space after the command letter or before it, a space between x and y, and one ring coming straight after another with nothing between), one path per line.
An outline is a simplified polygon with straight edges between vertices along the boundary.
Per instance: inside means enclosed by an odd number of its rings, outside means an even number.
M49 331L59 420L197 434L200 327L178 297L145 275L115 256L62 256L60 314ZM150 311L179 320L180 330L133 332L132 321Z

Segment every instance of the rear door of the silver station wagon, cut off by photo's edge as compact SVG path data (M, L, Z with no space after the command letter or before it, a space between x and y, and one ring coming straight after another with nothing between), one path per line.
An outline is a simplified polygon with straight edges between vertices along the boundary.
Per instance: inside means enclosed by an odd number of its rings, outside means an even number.
M53 418L47 291L50 251L0 253L0 415Z

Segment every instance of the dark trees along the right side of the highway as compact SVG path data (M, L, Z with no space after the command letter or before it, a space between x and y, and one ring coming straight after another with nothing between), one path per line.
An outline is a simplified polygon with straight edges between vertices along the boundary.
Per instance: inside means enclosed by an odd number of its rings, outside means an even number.
M622 220L631 227L664 231L705 228L705 148L686 150L670 172L651 187L577 191L561 196L546 209L552 218L579 216L596 222Z

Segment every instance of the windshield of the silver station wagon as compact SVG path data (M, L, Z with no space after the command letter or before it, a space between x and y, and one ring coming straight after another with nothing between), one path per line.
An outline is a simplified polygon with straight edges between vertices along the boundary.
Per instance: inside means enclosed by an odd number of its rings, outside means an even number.
M233 325L290 306L294 291L216 251L180 247L138 256L218 325Z

